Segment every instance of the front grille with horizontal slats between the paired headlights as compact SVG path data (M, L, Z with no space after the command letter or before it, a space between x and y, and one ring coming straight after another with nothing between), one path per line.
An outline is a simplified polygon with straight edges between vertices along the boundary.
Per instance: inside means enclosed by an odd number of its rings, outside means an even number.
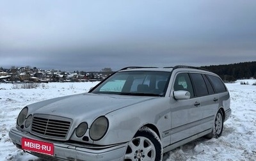
M56 116L34 116L31 132L42 137L54 137L65 139L70 128L71 121L67 118Z

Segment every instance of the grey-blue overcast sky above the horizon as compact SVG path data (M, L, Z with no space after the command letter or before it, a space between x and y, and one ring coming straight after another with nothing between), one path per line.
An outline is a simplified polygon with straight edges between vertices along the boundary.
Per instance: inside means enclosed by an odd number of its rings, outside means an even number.
M256 61L256 1L0 0L0 66L99 71Z

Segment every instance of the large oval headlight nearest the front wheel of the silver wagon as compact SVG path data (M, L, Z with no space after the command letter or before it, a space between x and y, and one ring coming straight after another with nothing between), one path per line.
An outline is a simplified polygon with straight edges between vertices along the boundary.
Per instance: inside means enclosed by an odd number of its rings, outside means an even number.
M92 123L90 128L90 137L93 141L99 141L108 130L108 119L101 116Z

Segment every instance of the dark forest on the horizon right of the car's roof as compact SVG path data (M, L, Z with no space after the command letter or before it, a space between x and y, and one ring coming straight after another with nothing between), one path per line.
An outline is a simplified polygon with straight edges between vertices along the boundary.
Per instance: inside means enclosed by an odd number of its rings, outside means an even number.
M256 61L230 65L202 66L202 68L220 75L221 79L225 82L232 82L237 79L256 78Z

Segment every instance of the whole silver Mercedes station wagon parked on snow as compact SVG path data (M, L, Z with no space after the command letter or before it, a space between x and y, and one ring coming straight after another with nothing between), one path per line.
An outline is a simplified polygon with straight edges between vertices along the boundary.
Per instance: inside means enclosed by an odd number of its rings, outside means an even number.
M131 66L88 93L27 105L9 136L45 160L163 160L198 137L218 138L231 114L218 75L193 66Z

